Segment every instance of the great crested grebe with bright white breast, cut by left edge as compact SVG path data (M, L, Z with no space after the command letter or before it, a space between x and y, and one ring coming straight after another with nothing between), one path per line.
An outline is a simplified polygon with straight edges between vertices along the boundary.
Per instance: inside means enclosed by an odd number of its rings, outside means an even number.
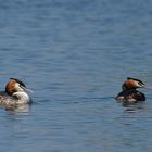
M23 104L30 104L31 98L25 84L16 78L10 78L5 86L5 91L0 92L0 105L18 106Z

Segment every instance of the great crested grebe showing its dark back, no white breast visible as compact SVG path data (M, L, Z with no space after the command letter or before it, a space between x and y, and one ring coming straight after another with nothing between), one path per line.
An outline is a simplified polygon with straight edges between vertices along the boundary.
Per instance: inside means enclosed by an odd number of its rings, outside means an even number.
M145 101L145 96L142 92L139 92L137 88L151 89L150 87L145 87L143 81L128 77L122 85L122 92L119 92L115 99L118 102L126 104Z

